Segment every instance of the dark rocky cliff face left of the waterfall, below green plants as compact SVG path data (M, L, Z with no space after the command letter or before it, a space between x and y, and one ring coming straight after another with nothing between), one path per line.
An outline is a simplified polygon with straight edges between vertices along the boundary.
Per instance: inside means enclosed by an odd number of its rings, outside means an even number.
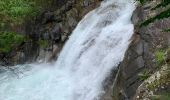
M26 21L15 31L29 39L8 54L0 55L1 65L15 65L57 58L79 20L100 4L101 0L53 0L36 19Z

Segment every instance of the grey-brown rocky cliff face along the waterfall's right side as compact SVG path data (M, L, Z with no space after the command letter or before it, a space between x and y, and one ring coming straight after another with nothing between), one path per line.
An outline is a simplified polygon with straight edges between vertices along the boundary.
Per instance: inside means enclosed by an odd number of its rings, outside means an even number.
M113 100L132 100L136 89L142 83L139 73L143 70L153 73L159 66L156 64L155 53L170 46L169 32L162 31L170 26L170 18L139 27L141 22L165 9L151 10L159 2L160 0L147 1L144 5L138 5L134 11L132 21L135 24L135 33L132 43L126 52L124 61L119 66L117 76L113 75L116 82L110 86L112 90L108 90Z

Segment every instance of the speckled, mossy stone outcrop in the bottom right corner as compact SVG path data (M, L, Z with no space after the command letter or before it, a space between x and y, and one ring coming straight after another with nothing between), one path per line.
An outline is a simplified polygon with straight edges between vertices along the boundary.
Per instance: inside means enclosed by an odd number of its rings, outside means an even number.
M164 65L159 71L146 79L138 87L134 100L169 100L169 71L169 65Z

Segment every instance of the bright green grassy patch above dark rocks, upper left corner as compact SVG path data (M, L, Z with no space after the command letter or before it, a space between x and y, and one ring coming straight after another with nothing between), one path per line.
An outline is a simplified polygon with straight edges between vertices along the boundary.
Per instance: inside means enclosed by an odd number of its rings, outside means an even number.
M0 27L4 24L22 24L36 16L52 0L0 0Z

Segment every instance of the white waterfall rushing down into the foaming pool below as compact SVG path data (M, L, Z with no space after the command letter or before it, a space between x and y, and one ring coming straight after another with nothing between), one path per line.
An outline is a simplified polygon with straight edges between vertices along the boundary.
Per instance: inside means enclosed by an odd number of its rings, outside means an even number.
M134 0L105 0L78 24L55 64L0 75L0 100L99 100L133 35ZM26 66L26 65L25 65Z

